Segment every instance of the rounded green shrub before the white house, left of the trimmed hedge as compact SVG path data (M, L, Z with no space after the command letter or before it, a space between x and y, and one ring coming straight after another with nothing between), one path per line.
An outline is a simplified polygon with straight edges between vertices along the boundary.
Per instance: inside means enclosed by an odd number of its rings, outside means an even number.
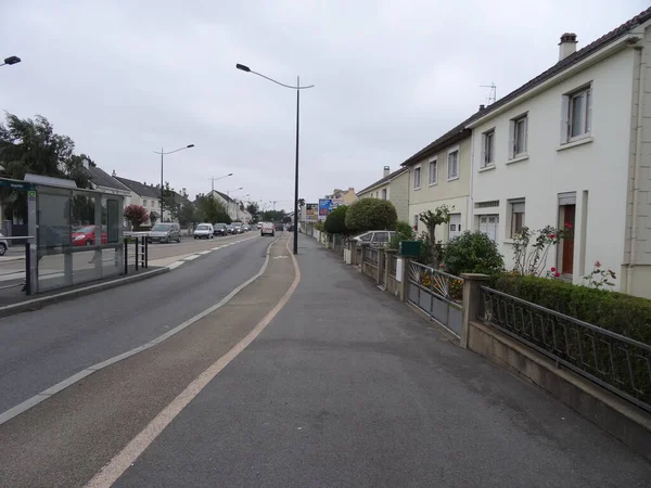
M451 274L484 273L495 275L502 271L505 260L497 244L482 232L465 231L451 240L445 248L445 271Z

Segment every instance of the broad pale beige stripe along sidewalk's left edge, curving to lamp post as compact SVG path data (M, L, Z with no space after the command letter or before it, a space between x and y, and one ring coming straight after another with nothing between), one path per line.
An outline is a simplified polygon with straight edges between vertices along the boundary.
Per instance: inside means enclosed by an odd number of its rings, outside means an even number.
M288 241L288 251L289 251ZM270 251L270 246L269 246ZM267 251L266 264L269 261L269 251ZM301 270L298 269L298 262L294 255L291 255L294 261L294 281L292 285L282 296L282 298L276 304L276 306L269 310L265 318L240 341L235 346L225 354L221 358L210 364L203 373L188 385L188 387L181 391L167 407L165 407L161 413L158 413L148 425L138 434L131 441L117 454L108 464L106 464L93 478L86 485L86 488L110 488L117 479L127 471L127 468L144 452L144 450L161 435L161 433L167 427L171 421L206 387L210 381L224 368L226 368L235 357L242 352L259 334L271 322L271 320L278 314L278 312L284 307L290 297L294 294L298 282L301 281Z

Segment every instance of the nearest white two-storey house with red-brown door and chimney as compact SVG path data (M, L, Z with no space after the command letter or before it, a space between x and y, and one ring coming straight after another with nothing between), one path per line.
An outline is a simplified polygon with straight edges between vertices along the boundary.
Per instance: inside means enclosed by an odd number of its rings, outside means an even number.
M472 129L472 223L512 262L526 226L573 229L547 261L575 284L599 260L651 298L651 9L486 107Z

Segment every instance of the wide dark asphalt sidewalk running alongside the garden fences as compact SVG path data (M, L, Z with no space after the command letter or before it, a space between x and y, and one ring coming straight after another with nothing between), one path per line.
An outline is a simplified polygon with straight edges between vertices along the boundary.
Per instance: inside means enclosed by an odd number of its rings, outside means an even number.
M299 236L288 305L116 487L646 486L651 465Z

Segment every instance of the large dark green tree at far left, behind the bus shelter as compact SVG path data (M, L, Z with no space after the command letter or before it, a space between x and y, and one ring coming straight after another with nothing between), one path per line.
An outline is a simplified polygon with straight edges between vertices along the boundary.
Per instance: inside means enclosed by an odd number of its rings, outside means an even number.
M77 187L89 188L82 170L84 162L93 164L85 154L75 155L75 143L67 136L54 132L52 124L41 115L22 119L7 114L0 124L0 164L4 176L22 180L26 174L69 178ZM0 189L0 202L9 216L27 218L27 203L22 192Z

